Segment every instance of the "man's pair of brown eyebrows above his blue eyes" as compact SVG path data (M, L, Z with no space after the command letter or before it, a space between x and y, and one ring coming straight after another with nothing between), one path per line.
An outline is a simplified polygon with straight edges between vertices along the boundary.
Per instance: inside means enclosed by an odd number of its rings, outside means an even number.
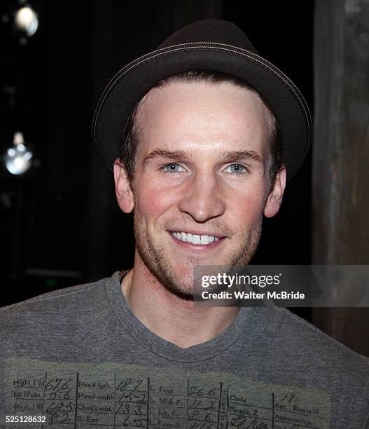
M188 160L190 156L190 153L183 150L168 151L167 149L153 149L152 151L148 152L148 154L146 154L144 161L142 162L145 164L153 158L174 158ZM262 163L264 165L263 157L260 156L256 151L221 151L220 158L225 162L250 160Z

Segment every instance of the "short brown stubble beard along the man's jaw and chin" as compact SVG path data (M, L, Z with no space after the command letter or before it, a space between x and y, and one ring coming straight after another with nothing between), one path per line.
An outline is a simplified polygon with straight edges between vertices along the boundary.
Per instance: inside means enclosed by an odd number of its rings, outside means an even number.
M242 268L249 264L249 261L251 261L258 247L261 227L262 217L260 217L256 226L249 229L240 249L233 252L233 254L230 254L228 257L225 257L224 261L216 265ZM165 229L163 229L163 231L165 231ZM193 273L186 275L186 278L179 278L179 274L176 273L175 267L169 260L167 252L165 252L160 243L155 243L155 240L151 238L142 227L142 222L140 222L139 214L137 214L136 210L134 210L134 237L139 257L141 257L141 260L156 280L177 297L192 300L194 297ZM193 267L198 265L200 264L197 258L188 256L186 266Z

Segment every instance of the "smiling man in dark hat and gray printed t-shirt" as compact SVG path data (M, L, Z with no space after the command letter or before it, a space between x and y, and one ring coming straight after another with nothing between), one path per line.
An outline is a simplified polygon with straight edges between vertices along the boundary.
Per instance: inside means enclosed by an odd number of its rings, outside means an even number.
M249 263L305 156L293 83L234 25L195 22L113 78L93 134L134 267L2 309L1 424L367 428L365 357L281 308L192 300L196 266Z

